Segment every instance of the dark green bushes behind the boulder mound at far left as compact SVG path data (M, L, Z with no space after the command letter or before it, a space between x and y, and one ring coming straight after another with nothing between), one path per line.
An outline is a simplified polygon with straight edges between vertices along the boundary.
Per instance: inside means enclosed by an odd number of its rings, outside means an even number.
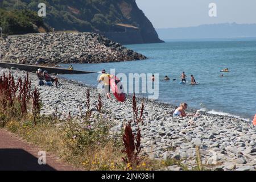
M0 9L0 27L9 35L48 31L43 19L31 10Z

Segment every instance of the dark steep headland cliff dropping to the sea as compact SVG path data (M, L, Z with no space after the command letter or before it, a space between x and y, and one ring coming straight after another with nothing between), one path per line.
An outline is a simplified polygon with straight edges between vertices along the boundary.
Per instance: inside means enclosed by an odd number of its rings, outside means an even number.
M17 7L16 0L2 1L3 9L11 10ZM123 34L126 36L124 39L131 40L130 43L162 42L135 0L23 0L19 1L19 9L38 11L40 2L46 3L47 7L44 22L55 30L112 32L111 35L114 35L113 32L126 32L125 28L118 28L115 24L129 24L138 27L137 32L133 34L136 36ZM141 39L139 42L138 38ZM119 42L124 43L122 40Z

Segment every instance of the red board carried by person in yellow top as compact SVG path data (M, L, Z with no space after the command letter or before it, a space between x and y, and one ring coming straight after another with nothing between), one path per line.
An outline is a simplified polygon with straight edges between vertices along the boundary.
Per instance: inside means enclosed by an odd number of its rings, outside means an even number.
M123 90L123 85L120 79L116 76L110 78L110 88L118 101L125 102L126 94Z

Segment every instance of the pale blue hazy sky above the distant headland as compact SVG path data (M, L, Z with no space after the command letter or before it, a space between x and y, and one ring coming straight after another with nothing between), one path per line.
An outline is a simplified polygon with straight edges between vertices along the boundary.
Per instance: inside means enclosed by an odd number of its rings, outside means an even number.
M256 0L136 0L155 28L214 23L256 23ZM209 16L216 3L217 17Z

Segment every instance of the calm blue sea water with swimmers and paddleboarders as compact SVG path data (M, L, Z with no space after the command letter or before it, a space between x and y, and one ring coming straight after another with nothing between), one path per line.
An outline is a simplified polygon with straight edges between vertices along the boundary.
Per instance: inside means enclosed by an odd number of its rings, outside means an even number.
M159 101L206 109L216 114L232 114L253 118L256 114L256 40L182 40L161 44L129 45L128 48L149 59L122 63L73 64L84 71L116 73L159 73L176 81L159 82ZM67 67L67 65L64 65ZM229 68L229 73L221 69ZM179 84L181 72L190 81L194 75L199 85ZM98 74L64 75L73 80L96 86Z

